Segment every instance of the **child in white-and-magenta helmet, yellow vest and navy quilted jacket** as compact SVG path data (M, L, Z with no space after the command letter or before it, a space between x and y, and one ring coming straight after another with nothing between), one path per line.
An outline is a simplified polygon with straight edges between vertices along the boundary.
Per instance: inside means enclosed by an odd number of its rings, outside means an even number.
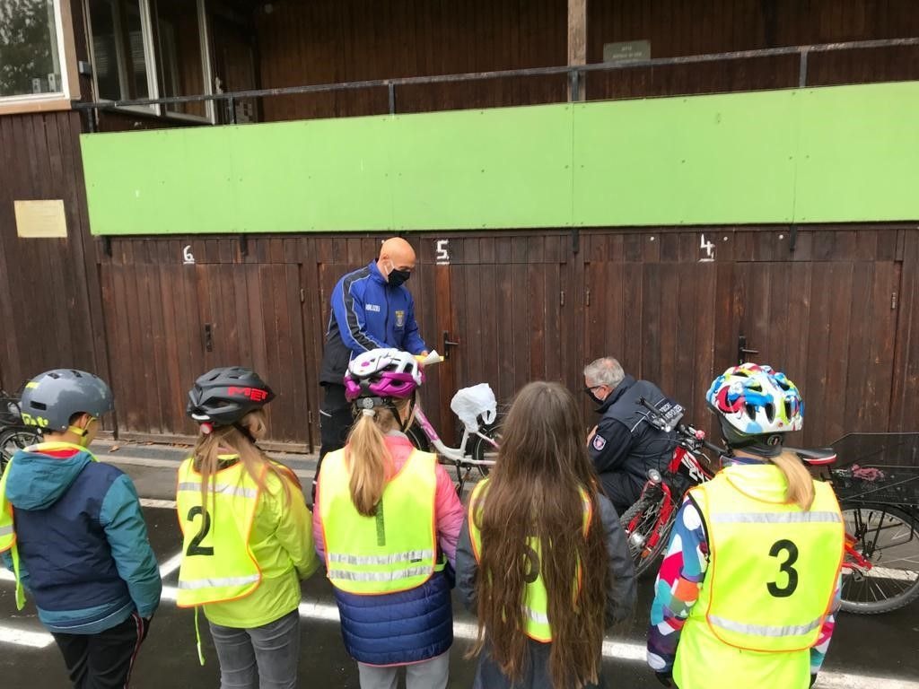
M444 689L453 642L448 567L462 505L435 455L412 446L414 356L373 349L348 366L357 421L344 449L323 459L313 524L335 586L348 653L362 689Z

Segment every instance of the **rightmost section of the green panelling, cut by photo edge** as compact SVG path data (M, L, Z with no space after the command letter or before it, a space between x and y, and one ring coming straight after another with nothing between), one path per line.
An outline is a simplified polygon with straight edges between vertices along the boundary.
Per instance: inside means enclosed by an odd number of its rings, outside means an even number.
M800 93L800 222L919 219L919 83Z

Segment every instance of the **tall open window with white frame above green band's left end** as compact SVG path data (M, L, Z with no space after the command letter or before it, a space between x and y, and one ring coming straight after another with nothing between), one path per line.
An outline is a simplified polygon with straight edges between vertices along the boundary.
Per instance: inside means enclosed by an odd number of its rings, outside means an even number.
M204 0L88 0L87 4L99 98L210 93ZM197 102L142 109L211 119L212 107Z

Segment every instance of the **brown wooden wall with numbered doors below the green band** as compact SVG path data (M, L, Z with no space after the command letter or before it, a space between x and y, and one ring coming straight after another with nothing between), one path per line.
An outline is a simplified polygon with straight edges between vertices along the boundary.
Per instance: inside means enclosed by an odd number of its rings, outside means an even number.
M273 438L316 445L329 294L375 256L380 238L250 237L247 254L235 239L113 239L113 255L97 260L112 376L127 401L119 428L190 434L184 403L193 378L243 363L278 391ZM423 397L448 439L453 390L488 382L503 402L537 378L580 390L584 364L607 355L713 430L704 394L734 363L740 334L760 351L755 360L799 384L807 404L800 442L914 429L914 228L806 228L794 252L788 227L592 230L576 242L565 231L409 239L420 259L408 286L421 333L438 351L445 332L459 342L429 369ZM444 240L448 265L437 265ZM182 265L186 245L195 265Z

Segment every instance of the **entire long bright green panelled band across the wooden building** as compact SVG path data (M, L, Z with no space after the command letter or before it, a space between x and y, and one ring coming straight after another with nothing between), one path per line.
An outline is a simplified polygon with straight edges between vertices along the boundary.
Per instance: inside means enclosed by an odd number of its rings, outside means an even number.
M82 137L95 234L919 219L919 83Z

